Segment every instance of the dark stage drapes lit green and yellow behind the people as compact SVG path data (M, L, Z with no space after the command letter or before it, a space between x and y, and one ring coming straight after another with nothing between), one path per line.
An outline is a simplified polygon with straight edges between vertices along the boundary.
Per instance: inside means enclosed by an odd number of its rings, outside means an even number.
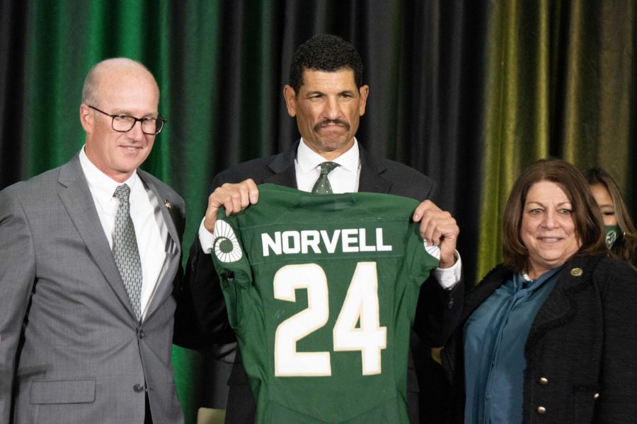
M297 139L292 52L333 33L366 66L357 139L438 182L471 285L499 261L504 201L538 158L607 168L635 210L636 16L630 0L2 0L0 188L77 153L84 76L131 57L161 88L168 124L143 167L185 198L187 250L212 177ZM197 356L173 357L192 420Z

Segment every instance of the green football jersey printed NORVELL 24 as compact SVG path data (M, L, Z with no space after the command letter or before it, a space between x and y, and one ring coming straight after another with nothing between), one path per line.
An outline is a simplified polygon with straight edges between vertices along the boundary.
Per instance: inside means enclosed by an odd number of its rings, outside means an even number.
M258 423L408 423L410 330L438 265L416 206L262 184L219 211L212 258Z

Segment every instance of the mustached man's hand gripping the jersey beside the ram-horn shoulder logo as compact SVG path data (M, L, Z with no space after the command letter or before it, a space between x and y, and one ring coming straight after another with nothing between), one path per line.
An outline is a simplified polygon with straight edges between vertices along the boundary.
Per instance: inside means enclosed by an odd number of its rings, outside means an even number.
M248 178L238 184L223 184L208 196L208 208L204 218L204 227L211 233L214 231L214 223L217 222L217 211L224 206L226 215L243 211L251 204L256 204L259 199L259 190L253 179Z

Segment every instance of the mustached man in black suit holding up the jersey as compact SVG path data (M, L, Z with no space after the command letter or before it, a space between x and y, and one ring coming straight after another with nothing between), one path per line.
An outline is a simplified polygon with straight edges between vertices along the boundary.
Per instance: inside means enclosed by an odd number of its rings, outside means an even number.
M227 213L236 213L258 201L257 184L269 182L314 191L321 185L317 179L326 172L325 163L330 163L330 192L388 193L418 201L431 196L435 184L430 178L406 165L375 158L355 139L368 93L369 87L362 84L362 62L350 43L333 35L317 35L297 49L283 95L290 116L297 119L302 139L285 153L251 160L214 178L214 192L199 237L190 250L176 318L177 344L202 348L217 343L218 356L224 355L219 346L224 346L223 342L231 336L219 282L212 269L212 230L220 207L224 206ZM420 221L423 238L440 246L441 251L440 269L434 272L431 282L423 285L423 301L414 329L430 346L440 346L447 330L447 326L442 328L443 323L452 325L461 303L462 285L457 284L461 265L455 251L459 230L454 218L429 200L415 209L413 219ZM417 382L413 372L408 378L412 392L410 417L416 422ZM255 405L239 351L229 385L226 422L253 422Z

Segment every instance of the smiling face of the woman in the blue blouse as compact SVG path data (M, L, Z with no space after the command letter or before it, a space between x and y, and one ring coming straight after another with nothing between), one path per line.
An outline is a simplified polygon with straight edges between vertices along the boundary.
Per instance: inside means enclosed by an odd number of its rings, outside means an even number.
M522 210L520 237L529 251L531 278L564 264L578 252L573 206L563 189L554 182L531 186Z

